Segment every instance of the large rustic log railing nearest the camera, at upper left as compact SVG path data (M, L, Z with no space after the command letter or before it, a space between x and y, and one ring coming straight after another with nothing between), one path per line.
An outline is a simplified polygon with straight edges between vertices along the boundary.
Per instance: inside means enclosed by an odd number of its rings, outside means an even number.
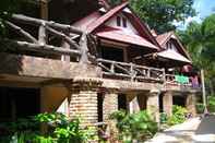
M7 48L15 48L17 51L68 56L68 58L75 57L79 61L84 62L88 60L87 34L76 27L22 14L13 14L9 21L5 21L5 24L11 31L20 35L15 39L1 39L1 43L10 45ZM34 32L26 28L29 26ZM37 31L36 34L35 29ZM49 39L51 38L60 39L60 46L50 43Z

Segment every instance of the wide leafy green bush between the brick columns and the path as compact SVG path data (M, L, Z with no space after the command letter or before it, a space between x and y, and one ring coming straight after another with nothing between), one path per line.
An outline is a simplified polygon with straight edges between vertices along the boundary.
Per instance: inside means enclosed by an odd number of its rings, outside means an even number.
M111 114L110 119L117 120L119 140L124 143L131 143L132 140L145 141L158 130L157 123L146 110L138 114L127 114L119 110Z

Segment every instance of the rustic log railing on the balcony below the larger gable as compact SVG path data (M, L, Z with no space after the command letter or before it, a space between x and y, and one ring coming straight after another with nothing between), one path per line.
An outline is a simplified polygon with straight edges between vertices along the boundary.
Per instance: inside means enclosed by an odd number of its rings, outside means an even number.
M98 65L103 69L103 75L120 78L131 81L165 81L165 70L138 65L134 63L118 62L105 59L97 59Z

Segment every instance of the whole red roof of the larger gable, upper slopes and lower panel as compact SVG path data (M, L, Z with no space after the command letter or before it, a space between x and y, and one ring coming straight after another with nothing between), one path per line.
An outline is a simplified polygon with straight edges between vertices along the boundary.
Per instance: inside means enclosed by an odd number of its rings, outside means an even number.
M157 40L151 34L147 26L142 23L141 20L133 12L124 14L126 16L128 16L128 19L136 28L140 35L128 35L123 32L116 33L116 31L107 32L105 29L106 26L104 24L119 12L122 12L126 7L128 7L128 2L122 2L121 4L115 7L105 14L96 11L88 16L82 19L81 21L74 23L73 26L80 27L81 29L87 31L88 33L94 32L94 34L96 34L97 31L103 29L104 32L99 32L96 35L112 40L158 49L159 44L157 43ZM112 36L116 36L117 38L114 39ZM121 37L123 37L123 39Z

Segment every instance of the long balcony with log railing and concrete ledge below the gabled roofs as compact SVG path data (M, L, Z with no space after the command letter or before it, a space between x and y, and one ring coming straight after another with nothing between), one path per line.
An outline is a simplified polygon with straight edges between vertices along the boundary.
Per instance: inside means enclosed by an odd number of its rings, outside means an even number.
M160 91L175 92L201 90L200 85L193 86L191 78L189 78L189 83L177 83L176 75L166 74L164 69L105 59L97 59L97 61L101 68L105 87L121 91L150 91L155 87Z

